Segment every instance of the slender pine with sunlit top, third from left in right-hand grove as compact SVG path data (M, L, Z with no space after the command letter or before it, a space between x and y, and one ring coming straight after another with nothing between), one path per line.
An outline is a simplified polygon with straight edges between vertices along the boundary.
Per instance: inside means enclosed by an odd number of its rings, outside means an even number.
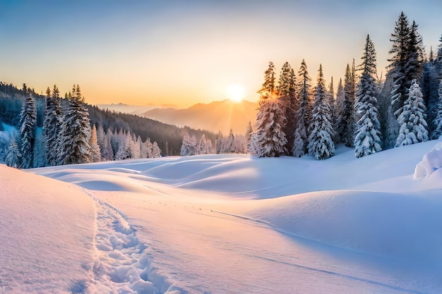
M293 135L292 155L294 157L301 157L306 153L307 138L309 137L308 125L311 116L312 96L311 96L311 78L307 65L302 59L301 67L298 71L299 89L298 106L296 113L296 128Z

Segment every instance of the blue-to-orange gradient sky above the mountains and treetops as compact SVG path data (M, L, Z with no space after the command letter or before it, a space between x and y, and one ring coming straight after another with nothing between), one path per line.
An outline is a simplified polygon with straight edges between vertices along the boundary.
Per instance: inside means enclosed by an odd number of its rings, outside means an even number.
M61 93L78 83L90 104L184 107L227 99L231 84L256 101L268 61L279 74L305 59L313 83L322 63L336 87L367 34L385 73L401 11L436 51L440 0L0 0L0 80Z

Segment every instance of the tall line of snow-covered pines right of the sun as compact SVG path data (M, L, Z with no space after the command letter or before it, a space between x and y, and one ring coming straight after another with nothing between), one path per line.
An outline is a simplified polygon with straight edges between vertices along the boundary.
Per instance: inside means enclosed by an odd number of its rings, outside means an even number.
M385 80L377 76L376 50L367 35L362 63L347 64L336 94L333 78L326 87L321 65L313 87L304 59L297 74L284 63L278 82L270 61L258 91L255 130L246 134L249 153L327 159L343 143L354 147L355 157L364 157L440 137L442 44L426 59L417 27L400 13Z

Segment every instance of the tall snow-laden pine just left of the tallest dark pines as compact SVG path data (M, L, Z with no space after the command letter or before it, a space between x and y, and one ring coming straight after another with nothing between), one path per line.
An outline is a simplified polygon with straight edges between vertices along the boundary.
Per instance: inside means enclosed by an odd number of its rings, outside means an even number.
M376 99L376 51L370 36L367 35L362 56L362 75L356 92L356 135L354 156L364 157L382 150L381 123Z

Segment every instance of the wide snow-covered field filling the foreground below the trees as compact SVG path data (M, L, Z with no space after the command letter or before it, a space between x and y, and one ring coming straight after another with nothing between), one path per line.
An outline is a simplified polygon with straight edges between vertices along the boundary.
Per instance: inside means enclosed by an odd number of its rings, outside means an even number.
M1 165L0 293L442 293L437 142Z

